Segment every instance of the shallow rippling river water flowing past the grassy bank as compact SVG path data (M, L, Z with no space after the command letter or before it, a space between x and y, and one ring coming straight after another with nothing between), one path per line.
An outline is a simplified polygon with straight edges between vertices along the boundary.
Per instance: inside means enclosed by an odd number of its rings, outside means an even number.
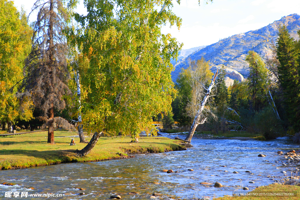
M193 139L192 144L194 147L186 151L139 154L130 159L2 170L0 182L17 185L0 185L0 199L21 199L5 198L4 192L8 191L62 194L62 197L48 199L108 199L113 194L119 194L125 200L147 199L154 192L161 193L162 199L212 199L232 195L233 191L241 191L241 187L253 190L275 180L281 182L285 176L280 171L291 175L295 164L282 166L281 162L285 160L276 152L298 149L297 144L285 139ZM257 157L258 154L267 156ZM178 173L167 174L161 172L162 169ZM247 170L251 173L246 173ZM269 180L268 175L274 180ZM204 181L212 185L200 184ZM223 187L213 187L215 182ZM85 191L76 188L84 188ZM139 194L128 195L129 192ZM47 198L28 196L24 199Z

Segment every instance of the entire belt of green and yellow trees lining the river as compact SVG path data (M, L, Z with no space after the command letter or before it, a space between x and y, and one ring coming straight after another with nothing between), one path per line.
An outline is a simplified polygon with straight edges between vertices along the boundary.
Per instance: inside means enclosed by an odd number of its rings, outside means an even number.
M55 144L56 128L76 124L80 142L86 142L82 129L93 135L79 153L86 155L103 132L138 142L142 131L156 134L153 121L190 130L211 85L196 131L300 139L300 42L284 25L267 63L248 52L245 81L227 88L224 67L212 73L201 59L190 60L173 83L170 60L182 44L161 33L168 23L181 26L171 1L87 0L86 16L73 12L77 4L37 1L37 21L29 24L29 13L0 1L2 130L48 129L48 143Z

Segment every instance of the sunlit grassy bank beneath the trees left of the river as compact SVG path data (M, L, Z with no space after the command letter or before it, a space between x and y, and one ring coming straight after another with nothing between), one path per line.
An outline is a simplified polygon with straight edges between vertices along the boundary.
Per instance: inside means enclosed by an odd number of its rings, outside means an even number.
M86 144L70 146L76 132L55 131L55 145L47 143L47 132L0 137L0 169L18 169L68 162L92 162L124 158L127 154L158 153L181 150L176 140L162 137L141 137L139 143L129 143L131 138L101 137L95 148L84 157L76 156ZM86 138L90 140L90 138Z

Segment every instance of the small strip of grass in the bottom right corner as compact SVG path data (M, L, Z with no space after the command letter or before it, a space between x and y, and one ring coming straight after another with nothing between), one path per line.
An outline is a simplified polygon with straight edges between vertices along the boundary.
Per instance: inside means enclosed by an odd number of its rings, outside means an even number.
M247 193L245 190L239 190L238 192ZM294 196L276 196L274 193L294 193ZM251 194L251 195L250 195ZM255 196L255 195L258 196ZM264 194L269 194L264 195ZM300 187L292 185L268 185L265 187L259 187L248 193L246 196L226 196L214 198L214 200L278 200L278 199L289 199L298 200L300 199Z

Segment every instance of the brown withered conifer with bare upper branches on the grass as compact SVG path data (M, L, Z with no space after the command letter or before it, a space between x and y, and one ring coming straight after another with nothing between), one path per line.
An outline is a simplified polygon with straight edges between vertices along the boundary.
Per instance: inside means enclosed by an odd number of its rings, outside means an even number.
M32 50L26 59L24 73L26 78L20 87L22 99L32 98L35 106L43 111L48 127L48 143L54 142L54 127L72 126L60 117L54 117L55 112L65 108L64 95L71 95L67 87L70 75L67 69L67 44L62 34L67 15L59 0L41 3L36 1L33 10L39 9L37 21L34 24Z

